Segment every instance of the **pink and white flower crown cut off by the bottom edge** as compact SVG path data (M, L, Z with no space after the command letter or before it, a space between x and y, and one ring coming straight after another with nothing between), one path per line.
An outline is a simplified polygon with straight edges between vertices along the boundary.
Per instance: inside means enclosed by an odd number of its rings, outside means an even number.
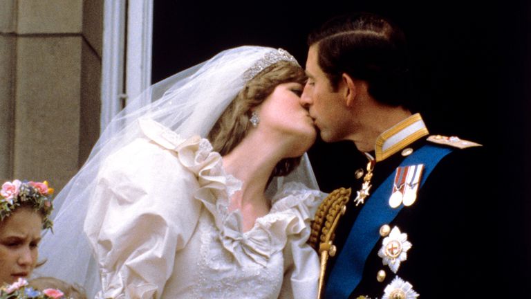
M64 293L58 289L44 289L38 291L28 286L28 281L19 278L12 284L0 287L0 299L66 299Z

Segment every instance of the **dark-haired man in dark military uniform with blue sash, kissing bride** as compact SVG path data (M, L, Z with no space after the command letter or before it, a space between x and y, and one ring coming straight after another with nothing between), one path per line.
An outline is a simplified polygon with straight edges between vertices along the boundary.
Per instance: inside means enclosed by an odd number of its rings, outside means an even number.
M483 149L430 135L411 111L402 31L361 13L328 21L308 45L302 104L324 141L353 141L367 157L335 238L317 244L330 255L323 297L489 294L496 244Z

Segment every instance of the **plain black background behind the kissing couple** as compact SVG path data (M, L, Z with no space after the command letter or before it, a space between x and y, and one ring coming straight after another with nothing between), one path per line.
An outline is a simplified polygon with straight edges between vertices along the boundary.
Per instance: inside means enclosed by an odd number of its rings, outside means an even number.
M499 203L497 217L463 228L492 230L478 251L492 251L485 263L500 283L485 287L503 298L531 297L531 3L186 2L155 1L153 82L245 44L285 48L304 66L306 36L334 15L364 10L395 21L409 42L411 97L430 132L482 143L489 153L483 188ZM349 185L362 163L351 143L317 142L309 155L324 191Z

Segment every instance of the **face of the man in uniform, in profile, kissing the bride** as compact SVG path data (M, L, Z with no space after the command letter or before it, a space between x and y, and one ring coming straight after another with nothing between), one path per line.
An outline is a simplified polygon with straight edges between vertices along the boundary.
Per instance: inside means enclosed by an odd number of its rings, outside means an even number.
M301 95L301 103L310 111L315 125L319 127L321 138L326 142L341 141L348 136L351 115L348 114L344 87L340 83L334 91L326 73L318 64L319 48L310 46L306 60L308 82Z

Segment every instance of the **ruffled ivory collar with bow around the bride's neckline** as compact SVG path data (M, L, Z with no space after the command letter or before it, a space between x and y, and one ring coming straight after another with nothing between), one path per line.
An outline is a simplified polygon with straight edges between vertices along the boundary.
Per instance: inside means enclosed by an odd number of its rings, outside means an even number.
M241 212L228 212L229 199L241 189L241 181L225 173L221 155L212 151L209 141L199 136L181 138L153 120L140 120L140 127L152 141L176 152L180 163L196 175L199 188L194 198L212 214L223 247L240 264L250 258L265 266L274 253L283 249L290 235L309 229L322 192L301 183L283 184L272 199L270 212L243 233Z

